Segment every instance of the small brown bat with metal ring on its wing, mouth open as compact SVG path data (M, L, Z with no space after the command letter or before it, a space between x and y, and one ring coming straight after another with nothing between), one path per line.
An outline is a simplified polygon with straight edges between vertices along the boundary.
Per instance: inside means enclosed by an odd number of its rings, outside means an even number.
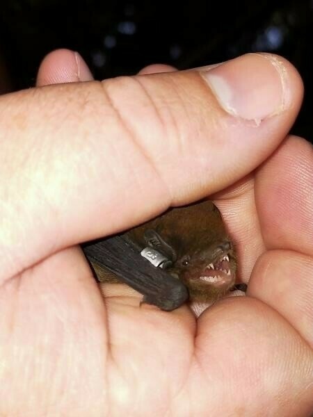
M234 247L210 201L171 208L123 234L83 245L83 252L99 281L125 282L144 295L143 302L166 311L188 298L214 302L234 288Z

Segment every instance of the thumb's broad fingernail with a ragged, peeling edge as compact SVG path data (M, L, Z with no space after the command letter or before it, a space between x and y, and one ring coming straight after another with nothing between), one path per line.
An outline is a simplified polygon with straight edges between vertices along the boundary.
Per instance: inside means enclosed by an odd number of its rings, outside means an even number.
M287 104L287 71L269 54L247 54L200 71L227 113L259 124Z

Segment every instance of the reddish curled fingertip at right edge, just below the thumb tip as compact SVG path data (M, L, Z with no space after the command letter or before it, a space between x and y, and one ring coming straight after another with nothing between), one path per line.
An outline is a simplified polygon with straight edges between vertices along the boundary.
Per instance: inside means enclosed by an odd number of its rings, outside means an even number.
M268 249L313 255L313 148L291 137L256 176L256 203Z

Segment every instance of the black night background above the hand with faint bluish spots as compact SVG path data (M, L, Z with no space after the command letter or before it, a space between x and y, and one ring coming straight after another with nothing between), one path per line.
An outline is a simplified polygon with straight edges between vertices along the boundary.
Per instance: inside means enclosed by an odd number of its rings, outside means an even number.
M303 77L292 133L312 141L312 12L313 0L0 0L0 89L29 88L42 58L63 47L79 51L96 79L151 63L186 69L270 51Z

